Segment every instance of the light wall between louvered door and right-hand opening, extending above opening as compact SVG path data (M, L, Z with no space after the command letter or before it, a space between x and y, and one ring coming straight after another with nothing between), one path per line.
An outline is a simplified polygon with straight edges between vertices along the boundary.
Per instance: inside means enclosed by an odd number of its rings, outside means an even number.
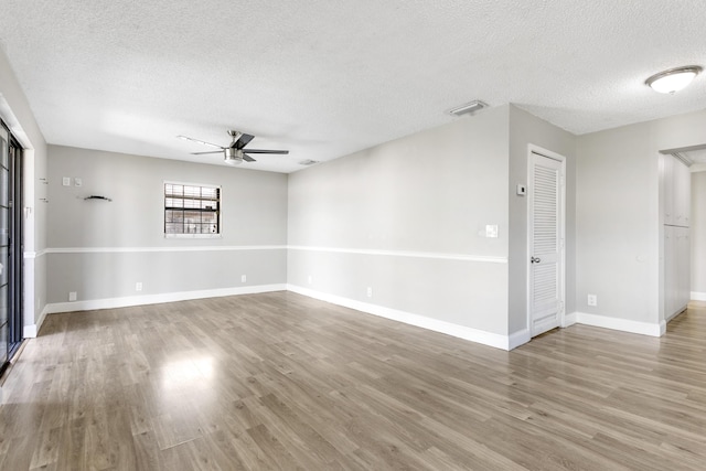
M659 151L703 143L704 129L706 111L698 111L578 137L576 296L584 320L663 330ZM597 307L587 306L588 293L598 296Z

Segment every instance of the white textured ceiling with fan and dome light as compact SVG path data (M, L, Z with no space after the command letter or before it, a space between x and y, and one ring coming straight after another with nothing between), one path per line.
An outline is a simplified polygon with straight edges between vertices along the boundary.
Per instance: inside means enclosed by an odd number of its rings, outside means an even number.
M704 0L3 0L0 45L50 143L291 172L514 103L575 133L706 108ZM0 90L1 93L1 90ZM481 111L482 113L482 111Z

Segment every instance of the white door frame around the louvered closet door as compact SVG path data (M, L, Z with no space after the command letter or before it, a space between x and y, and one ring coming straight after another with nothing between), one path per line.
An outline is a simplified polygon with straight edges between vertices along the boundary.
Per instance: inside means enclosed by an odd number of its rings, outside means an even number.
M532 203L534 195L534 186L533 186L533 164L532 164L532 154L537 153L547 159L556 160L561 163L560 168L560 178L559 178L559 217L561 218L559 224L559 327L566 328L568 327L567 317L566 317L566 157L553 152L548 149L544 149L539 146L527 144L527 225L526 225L526 253L525 253L525 264L526 264L526 310L527 310L527 335L532 339L534 335L532 334L532 264L530 264L530 257L532 256L532 227L533 227L533 216L532 216Z

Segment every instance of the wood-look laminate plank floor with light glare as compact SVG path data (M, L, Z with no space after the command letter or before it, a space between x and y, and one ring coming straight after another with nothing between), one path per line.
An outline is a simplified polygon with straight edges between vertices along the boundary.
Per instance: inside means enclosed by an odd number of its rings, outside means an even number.
M512 352L291 292L49 315L0 469L705 470L706 303Z

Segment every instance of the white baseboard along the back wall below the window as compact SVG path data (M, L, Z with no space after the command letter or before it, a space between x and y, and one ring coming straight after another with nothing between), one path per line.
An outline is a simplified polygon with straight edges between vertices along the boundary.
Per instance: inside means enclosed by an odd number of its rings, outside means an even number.
M159 304L162 302L188 301L191 299L220 298L223 296L255 295L259 292L285 291L287 285L260 285L238 288L205 289L200 291L165 292L161 295L127 296L124 298L89 299L85 301L54 302L46 304L49 314L97 309L129 308L132 306Z

